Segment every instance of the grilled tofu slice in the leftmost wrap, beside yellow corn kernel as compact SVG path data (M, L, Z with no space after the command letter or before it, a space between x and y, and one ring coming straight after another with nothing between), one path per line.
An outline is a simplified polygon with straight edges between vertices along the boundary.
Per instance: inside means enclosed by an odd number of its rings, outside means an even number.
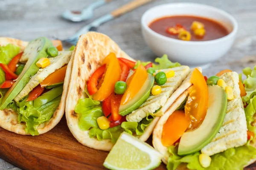
M51 64L46 68L39 69L14 100L18 102L23 99L23 97L28 95L29 92L32 91L33 88L35 88L37 85L39 85L46 77L48 77L62 66L66 65L70 61L72 52L73 51L60 51L57 57L49 58Z

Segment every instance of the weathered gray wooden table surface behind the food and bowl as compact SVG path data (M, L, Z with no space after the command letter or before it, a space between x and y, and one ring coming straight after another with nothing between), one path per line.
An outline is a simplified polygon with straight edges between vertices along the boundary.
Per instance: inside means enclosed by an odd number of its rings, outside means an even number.
M0 0L0 37L14 37L32 40L36 37L65 38L74 34L90 21L72 23L60 15L66 9L78 10L94 0ZM113 0L97 9L95 18L128 3L130 0ZM156 57L145 44L140 18L148 9L158 4L182 2L182 0L154 0L124 16L99 27L99 32L107 34L131 57L154 60ZM239 31L233 48L220 60L204 70L209 76L223 69L241 72L247 66L256 65L256 0L186 0L221 8L232 14L239 23ZM0 170L18 170L0 159Z

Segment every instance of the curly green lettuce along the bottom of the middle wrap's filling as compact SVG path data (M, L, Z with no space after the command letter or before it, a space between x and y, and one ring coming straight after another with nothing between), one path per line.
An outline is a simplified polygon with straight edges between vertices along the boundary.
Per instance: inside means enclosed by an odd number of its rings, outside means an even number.
M91 98L79 99L75 107L75 112L79 113L79 128L81 130L90 130L89 136L91 138L95 137L99 141L111 139L113 143L116 143L117 139L124 131L130 134L136 133L136 135L142 135L145 128L148 127L153 120L153 117L148 114L148 116L139 123L122 122L121 125L102 130L97 123L97 118L104 116L102 107L99 101Z

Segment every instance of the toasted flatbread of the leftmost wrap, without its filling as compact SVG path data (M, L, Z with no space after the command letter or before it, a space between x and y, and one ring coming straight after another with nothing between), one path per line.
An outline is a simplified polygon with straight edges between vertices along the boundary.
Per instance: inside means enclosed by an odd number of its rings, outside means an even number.
M15 42L16 45L24 45L25 43L22 42L21 40L16 40L16 39L10 39L10 38L0 38L0 42L3 42L3 44L0 43L0 45L7 45L8 43ZM25 47L26 45L22 46L21 48ZM64 85L63 85L63 93L61 96L61 102L54 112L52 118L49 120L49 122L43 123L38 126L37 130L39 134L43 134L51 130L55 125L60 122L64 111L65 111L65 99L67 96L67 88L68 84L70 82L70 74L71 74L71 67L72 62L67 66L67 72L66 72L66 77L64 80ZM30 135L25 132L26 124L25 123L18 123L18 113L11 110L11 109L4 109L3 111L0 111L0 127L3 129L9 130L11 132L21 134L21 135Z

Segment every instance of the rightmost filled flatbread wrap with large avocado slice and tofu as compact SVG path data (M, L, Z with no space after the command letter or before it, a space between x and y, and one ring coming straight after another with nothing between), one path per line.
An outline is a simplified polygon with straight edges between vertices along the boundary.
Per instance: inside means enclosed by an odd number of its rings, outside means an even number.
M256 160L255 73L192 73L184 91L157 122L153 146L169 170L241 170ZM244 88L245 87L245 88Z

